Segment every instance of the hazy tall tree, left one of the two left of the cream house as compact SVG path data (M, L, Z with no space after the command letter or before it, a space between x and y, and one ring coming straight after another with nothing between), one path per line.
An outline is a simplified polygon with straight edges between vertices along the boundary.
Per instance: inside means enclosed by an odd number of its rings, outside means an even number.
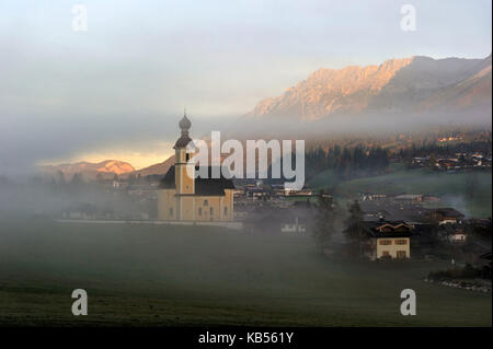
M333 232L334 202L331 196L329 196L324 190L320 190L318 196L313 237L322 255L329 242L331 241Z

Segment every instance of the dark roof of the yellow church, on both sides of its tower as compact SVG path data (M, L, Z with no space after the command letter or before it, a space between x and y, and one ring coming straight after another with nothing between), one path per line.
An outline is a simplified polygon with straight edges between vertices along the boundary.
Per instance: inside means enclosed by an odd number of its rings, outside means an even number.
M197 168L197 167L196 167ZM197 168L198 170L198 168ZM195 195L197 196L222 196L225 189L234 189L232 179L222 176L220 178L211 178L213 167L208 166L208 178L195 178ZM160 188L176 189L174 182L174 166L168 170L168 173L161 179Z

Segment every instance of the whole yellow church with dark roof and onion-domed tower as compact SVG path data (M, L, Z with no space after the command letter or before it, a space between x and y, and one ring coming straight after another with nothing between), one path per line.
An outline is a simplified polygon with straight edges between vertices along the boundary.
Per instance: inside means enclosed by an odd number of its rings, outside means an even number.
M180 120L181 137L174 144L175 163L160 182L158 190L158 219L164 221L217 221L231 222L233 212L232 179L194 178L186 171L191 153L186 146L192 141L188 130L192 127L186 114Z

